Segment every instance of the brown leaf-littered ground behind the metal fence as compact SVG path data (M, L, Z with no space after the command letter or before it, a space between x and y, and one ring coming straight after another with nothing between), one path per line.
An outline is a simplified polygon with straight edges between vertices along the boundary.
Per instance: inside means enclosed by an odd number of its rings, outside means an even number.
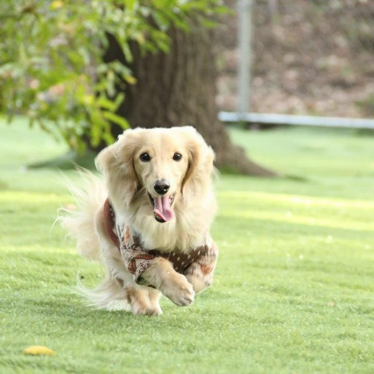
M258 0L252 22L252 111L374 115L374 1ZM217 100L235 110L236 14L222 23Z

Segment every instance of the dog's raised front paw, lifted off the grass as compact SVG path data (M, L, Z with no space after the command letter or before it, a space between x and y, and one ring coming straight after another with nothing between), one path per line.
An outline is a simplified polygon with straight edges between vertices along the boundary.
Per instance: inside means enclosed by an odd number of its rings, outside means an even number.
M182 274L175 273L161 286L161 292L175 305L186 307L195 297L193 286Z

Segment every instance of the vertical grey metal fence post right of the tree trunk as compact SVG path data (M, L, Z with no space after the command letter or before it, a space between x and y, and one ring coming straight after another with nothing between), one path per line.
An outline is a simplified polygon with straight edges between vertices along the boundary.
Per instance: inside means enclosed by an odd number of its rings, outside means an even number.
M238 117L249 112L252 0L238 0Z

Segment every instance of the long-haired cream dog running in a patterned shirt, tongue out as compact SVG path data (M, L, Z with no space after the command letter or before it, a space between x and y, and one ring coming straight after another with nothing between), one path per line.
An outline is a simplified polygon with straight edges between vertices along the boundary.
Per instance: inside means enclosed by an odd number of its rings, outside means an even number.
M213 160L193 127L129 129L96 157L103 181L83 172L83 188L70 187L78 209L64 210L62 224L79 253L107 270L95 289L81 287L92 305L157 315L161 293L187 306L212 283Z

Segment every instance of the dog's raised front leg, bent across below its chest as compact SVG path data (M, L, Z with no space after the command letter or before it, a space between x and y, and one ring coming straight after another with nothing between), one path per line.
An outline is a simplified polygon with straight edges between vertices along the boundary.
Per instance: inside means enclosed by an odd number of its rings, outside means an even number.
M183 274L177 273L171 262L165 258L155 258L152 265L142 273L142 278L158 288L179 307L193 302L195 292L192 284Z

